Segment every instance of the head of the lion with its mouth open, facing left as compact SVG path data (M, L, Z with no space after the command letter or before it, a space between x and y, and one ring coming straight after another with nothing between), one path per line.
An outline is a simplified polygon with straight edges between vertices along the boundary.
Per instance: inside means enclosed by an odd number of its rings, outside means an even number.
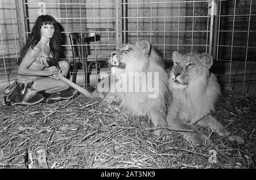
M143 42L144 43L144 42ZM150 44L148 44L150 46ZM146 48L146 49L145 49ZM141 42L136 45L127 44L111 52L110 63L112 73L143 72L148 65L148 51L150 47L143 46Z

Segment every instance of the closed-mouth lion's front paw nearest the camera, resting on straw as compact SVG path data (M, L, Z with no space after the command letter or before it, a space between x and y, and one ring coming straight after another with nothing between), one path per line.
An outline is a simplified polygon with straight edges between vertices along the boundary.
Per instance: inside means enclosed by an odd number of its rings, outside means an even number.
M192 145L199 146L199 145L210 145L212 141L205 136L203 133L189 133L188 136L185 136L185 139L191 143Z

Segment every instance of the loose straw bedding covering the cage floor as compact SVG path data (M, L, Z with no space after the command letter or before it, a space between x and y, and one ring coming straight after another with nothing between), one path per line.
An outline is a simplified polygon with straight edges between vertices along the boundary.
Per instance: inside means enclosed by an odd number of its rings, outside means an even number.
M119 115L82 95L31 107L0 105L0 167L255 168L255 105L251 97L224 92L213 115L245 144L199 127L214 144L205 148L176 131L168 140L156 137L146 117Z

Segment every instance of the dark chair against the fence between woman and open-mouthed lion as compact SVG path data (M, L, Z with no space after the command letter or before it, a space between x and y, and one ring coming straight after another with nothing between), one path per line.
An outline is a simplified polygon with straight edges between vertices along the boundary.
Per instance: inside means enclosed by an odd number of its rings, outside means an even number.
M98 74L101 68L105 68L108 65L108 59L106 60L106 55L88 55L88 48L86 47L89 41L94 41L94 37L85 37L85 33L72 32L69 34L69 39L73 55L72 81L76 83L78 69L82 66L85 75L85 85L87 86L90 82L92 69L96 68L94 73Z

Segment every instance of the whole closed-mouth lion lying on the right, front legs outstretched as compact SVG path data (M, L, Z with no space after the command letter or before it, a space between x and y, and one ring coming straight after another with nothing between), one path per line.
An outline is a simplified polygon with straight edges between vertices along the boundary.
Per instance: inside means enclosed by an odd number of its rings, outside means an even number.
M181 55L174 52L172 59L174 66L169 79L172 98L167 114L168 127L193 131L181 132L193 145L210 143L207 136L192 126L196 123L209 127L220 136L228 136L231 141L243 143L242 137L231 135L210 115L210 110L214 110L214 103L221 94L216 76L209 73L213 64L212 56L207 53Z

